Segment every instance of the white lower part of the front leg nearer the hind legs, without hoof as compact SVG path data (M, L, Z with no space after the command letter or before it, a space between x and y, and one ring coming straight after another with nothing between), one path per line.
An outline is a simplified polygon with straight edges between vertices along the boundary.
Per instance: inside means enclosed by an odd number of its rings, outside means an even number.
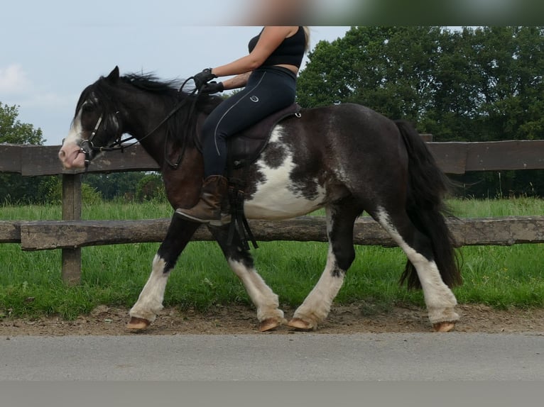
M283 319L283 311L278 309L278 296L266 285L266 282L257 274L255 269L248 269L243 263L230 259L229 266L246 287L249 298L257 308L259 321L267 318Z

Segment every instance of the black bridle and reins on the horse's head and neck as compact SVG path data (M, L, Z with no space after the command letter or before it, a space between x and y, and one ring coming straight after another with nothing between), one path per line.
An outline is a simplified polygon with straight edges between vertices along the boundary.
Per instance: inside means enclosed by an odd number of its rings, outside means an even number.
M193 77L189 77L189 78L185 79L185 82L183 82L180 89L178 90L178 94L182 94L183 87L185 87L185 84L187 84L187 82L189 82L190 79L193 79ZM142 138L136 140L136 137L134 137L134 135L131 135L131 136L123 139L122 134L120 134L116 138L116 140L114 140L114 142L111 143L110 145L102 146L102 147L95 147L93 141L94 141L94 138L96 137L96 135L98 133L98 130L99 130L100 126L102 125L102 121L104 120L104 113L102 113L99 116L99 118L97 119L97 123L94 126L94 129L92 130L91 135L89 136L89 138L87 138L85 140L82 140L81 145L80 145L80 152L85 154L85 171L87 171L87 169L89 167L89 164L91 163L91 160L93 158L93 156L92 156L93 152L97 153L97 152L116 151L116 150L120 150L121 152L124 152L125 148L132 147L133 145L136 145L136 144L140 143L142 140L145 140L150 135L155 133L159 128L161 128L161 126L163 126L164 123L166 123L168 120L170 120L170 118L172 118L172 116L174 116L175 113L177 113L180 110L180 108L182 108L183 105L185 105L187 100L190 99L191 96L197 94L198 91L200 91L200 89L195 88L195 89L192 90L192 92L190 94L187 94L183 99L178 101L178 104L176 104L173 107L173 109L170 111L170 113L168 113L165 116L165 118L163 118L163 120L158 123L157 126L155 126L151 131L149 131ZM189 116L192 116L192 113L193 113L193 111L195 109L196 101L197 101L197 98L193 99L193 102L191 104L191 110L190 110ZM118 115L119 111L116 111L115 114ZM130 140L136 140L136 141L134 141L133 143L131 143L129 145L126 145L125 143L130 141ZM165 145L164 145L165 155L164 155L164 158L165 158L165 161L168 163L168 165L170 165L170 167L173 167L174 169L176 169L176 168L178 168L180 166L180 162L181 162L181 160L183 160L183 155L185 155L185 145L186 145L186 143L183 143L183 150L182 150L182 152L178 156L178 159L175 162L171 162L168 159L168 155L166 154L167 144L168 144L168 132L166 133L166 137L165 137Z

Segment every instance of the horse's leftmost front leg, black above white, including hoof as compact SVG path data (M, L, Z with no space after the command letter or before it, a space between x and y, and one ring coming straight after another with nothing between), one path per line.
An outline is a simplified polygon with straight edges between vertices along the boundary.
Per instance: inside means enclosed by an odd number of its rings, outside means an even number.
M151 275L143 286L138 301L129 311L131 319L126 325L127 329L146 329L163 309L164 291L170 271L199 226L200 223L184 221L180 216L173 216L166 238L153 259Z

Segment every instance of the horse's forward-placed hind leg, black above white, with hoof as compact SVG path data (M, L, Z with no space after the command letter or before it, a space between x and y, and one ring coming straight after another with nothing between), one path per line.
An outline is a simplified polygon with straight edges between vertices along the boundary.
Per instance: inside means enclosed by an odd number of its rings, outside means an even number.
M344 276L355 258L353 226L361 211L354 207L326 208L329 252L319 281L293 314L288 326L315 330L330 313L332 301L344 283Z

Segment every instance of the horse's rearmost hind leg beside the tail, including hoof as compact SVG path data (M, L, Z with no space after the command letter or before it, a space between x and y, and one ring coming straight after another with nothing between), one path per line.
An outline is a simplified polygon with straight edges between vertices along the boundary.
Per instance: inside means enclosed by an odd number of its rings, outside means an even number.
M448 332L459 320L459 315L455 312L457 299L440 276L430 239L415 228L406 212L398 213L401 215L395 216L393 220L385 209L379 208L374 218L387 230L413 264L433 328L437 332Z

